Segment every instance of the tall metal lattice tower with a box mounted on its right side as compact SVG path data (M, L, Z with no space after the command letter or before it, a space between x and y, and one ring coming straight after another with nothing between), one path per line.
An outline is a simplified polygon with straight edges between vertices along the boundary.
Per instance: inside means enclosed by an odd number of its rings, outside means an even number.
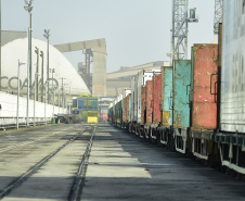
M188 59L188 25L197 23L196 9L188 10L189 0L172 0L171 60Z

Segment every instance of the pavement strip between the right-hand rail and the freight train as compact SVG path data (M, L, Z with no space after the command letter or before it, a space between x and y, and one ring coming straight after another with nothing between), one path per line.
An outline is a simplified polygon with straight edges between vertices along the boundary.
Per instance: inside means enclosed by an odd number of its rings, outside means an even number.
M244 200L244 183L134 134L99 127L81 200Z

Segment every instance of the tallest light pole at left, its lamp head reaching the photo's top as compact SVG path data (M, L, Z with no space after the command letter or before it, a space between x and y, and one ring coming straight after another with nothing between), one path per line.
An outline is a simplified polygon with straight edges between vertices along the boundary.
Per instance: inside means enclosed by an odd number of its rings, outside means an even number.
M28 29L28 66L27 66L27 109L26 109L26 125L29 126L29 90L31 87L31 11L34 7L31 5L34 0L29 2L25 0L26 5L24 7L29 13L29 29Z

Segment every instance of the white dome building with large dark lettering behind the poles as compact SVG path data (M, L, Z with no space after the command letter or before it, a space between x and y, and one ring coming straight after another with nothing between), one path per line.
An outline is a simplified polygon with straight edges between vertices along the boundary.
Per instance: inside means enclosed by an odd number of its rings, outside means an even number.
M37 67L37 53L35 47L39 49L39 53L43 52L43 81L47 80L47 41L33 38L31 40L31 86L34 86L35 73ZM1 90L16 93L17 91L17 68L18 60L25 63L21 66L21 93L26 95L27 91L27 60L28 60L28 39L21 38L5 43L2 47L2 65L1 65ZM53 70L53 86L54 88L63 88L65 93L72 96L80 96L90 91L85 81L77 73L72 63L53 46L49 46L49 68ZM39 58L39 92L41 90L42 77L42 59ZM49 73L49 88L52 90L52 73ZM57 93L56 93L57 95Z

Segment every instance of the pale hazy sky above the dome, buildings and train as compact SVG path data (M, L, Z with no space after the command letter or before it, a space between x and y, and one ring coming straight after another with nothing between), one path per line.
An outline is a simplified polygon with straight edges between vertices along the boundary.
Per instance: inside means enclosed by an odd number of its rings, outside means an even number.
M29 0L28 0L29 1ZM1 0L2 30L27 30L24 0ZM154 61L169 61L171 0L34 0L33 37L43 39L51 29L50 43L105 38L107 72ZM189 26L189 55L193 43L214 38L215 0L189 0L199 23ZM83 61L81 51L65 54L72 64ZM190 58L190 56L189 56Z

